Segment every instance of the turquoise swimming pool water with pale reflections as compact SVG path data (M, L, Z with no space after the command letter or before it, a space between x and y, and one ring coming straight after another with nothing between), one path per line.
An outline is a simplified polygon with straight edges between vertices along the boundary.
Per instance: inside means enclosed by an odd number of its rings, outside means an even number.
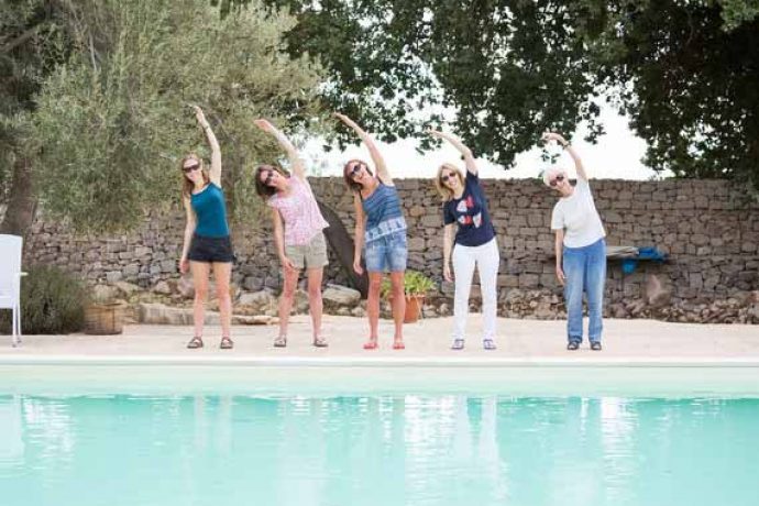
M0 395L0 504L754 505L759 399Z

